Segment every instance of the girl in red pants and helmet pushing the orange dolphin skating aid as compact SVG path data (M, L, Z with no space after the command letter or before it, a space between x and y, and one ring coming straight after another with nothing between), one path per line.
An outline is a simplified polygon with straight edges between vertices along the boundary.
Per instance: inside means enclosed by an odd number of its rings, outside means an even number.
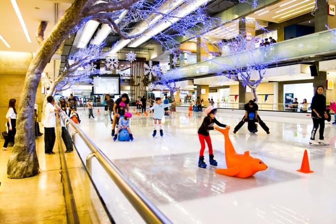
M213 124L218 125L219 127L222 128L229 128L230 126L221 124L220 122L218 122L215 118L217 113L217 108L214 106L210 106L206 109L206 117L203 120L203 123L201 125L201 127L198 129L198 137L200 138L200 143L201 143L201 150L200 150L200 158L198 160L198 167L200 168L207 168L207 164L204 162L204 150L206 148L206 143L208 144L208 148L209 148L209 162L210 165L212 166L217 166L217 161L213 159L213 151L212 151L212 144L211 144L211 138L210 138L210 134L209 131L216 129L218 130L218 127L213 127Z

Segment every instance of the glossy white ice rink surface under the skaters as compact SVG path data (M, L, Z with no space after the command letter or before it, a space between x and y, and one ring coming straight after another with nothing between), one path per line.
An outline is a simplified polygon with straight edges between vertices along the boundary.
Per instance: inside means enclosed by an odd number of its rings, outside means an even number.
M101 110L88 119L80 109L80 127L140 191L176 224L335 224L336 126L326 124L329 146L309 146L311 119L261 116L270 128L250 134L247 125L233 134L242 115L218 113L231 126L230 138L238 153L250 150L268 169L248 179L215 174L205 151L207 169L198 168L197 130L204 113L177 112L163 120L164 137L152 137L152 115L131 119L133 142L113 142L111 122ZM226 168L224 138L210 131L217 168ZM318 136L318 134L317 134ZM297 172L308 150L314 173ZM143 223L98 163L93 179L117 223ZM109 198L109 200L106 200Z

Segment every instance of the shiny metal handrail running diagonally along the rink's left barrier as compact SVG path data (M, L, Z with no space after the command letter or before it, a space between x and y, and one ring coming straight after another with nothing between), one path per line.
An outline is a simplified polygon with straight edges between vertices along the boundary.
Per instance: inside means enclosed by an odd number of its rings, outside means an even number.
M89 175L91 175L91 159L95 157L146 223L171 224L171 221L168 220L168 218L122 174L122 172L111 162L111 160L64 112L61 112L60 115L63 119L63 123L66 124L66 129L68 129L68 126L71 125L75 130L72 136L74 142L75 135L79 135L91 151L86 158L86 168Z

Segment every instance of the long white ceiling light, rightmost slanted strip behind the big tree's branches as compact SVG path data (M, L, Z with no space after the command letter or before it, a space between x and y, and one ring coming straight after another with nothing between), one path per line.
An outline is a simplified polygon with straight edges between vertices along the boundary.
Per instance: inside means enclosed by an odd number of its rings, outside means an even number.
M193 2L192 4L189 2L187 2L186 4L184 4L181 8L178 9L178 11L175 13L176 17L184 17L186 15L188 15L189 13L191 13L192 11L194 11L196 8L198 8L200 5L208 2L209 0L197 0L196 2ZM172 18L168 21L163 21L160 24L158 24L156 27L154 27L153 29L147 31L146 33L144 33L143 36L141 36L140 38L135 39L135 41L133 41L131 44L129 44L129 47L137 47L138 45L141 45L142 43L146 42L147 40L151 39L151 37L153 37L154 35L157 35L158 33L160 33L161 31L167 29L169 26L171 26L171 24L176 23L179 18Z

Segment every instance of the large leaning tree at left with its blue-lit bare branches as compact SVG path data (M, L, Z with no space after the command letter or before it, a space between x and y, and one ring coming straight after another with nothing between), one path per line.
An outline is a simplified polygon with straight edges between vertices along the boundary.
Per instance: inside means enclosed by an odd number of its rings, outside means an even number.
M176 7L174 6L171 9L174 12L165 10L176 2L178 2ZM196 4L197 2L194 0L158 0L154 2L146 0L74 0L46 39L44 39L43 34L47 23L41 22L37 32L37 41L40 47L28 68L20 97L15 146L8 160L7 176L9 178L26 178L39 173L39 161L33 132L37 88L46 64L70 34L77 32L89 20L95 20L108 24L112 32L118 33L124 40L135 39L140 36L148 35L150 37L156 35L154 34L155 27L167 23L168 26L166 28L170 27L168 29L170 32L161 32L154 39L160 41L167 49L172 49L178 44L173 39L176 36L184 35L195 38L201 35L196 32L189 32L189 28L202 24L204 31L207 32L212 29L211 22L213 19L209 20L209 17L206 16L204 5ZM127 10L126 15L122 19L119 18L125 10ZM182 16L179 16L180 13L187 11L186 15L181 14ZM195 12L192 13L192 11ZM130 24L136 24L141 21L150 22L144 29L130 26ZM74 71L77 70L75 66L73 66ZM78 65L78 67L80 66Z

